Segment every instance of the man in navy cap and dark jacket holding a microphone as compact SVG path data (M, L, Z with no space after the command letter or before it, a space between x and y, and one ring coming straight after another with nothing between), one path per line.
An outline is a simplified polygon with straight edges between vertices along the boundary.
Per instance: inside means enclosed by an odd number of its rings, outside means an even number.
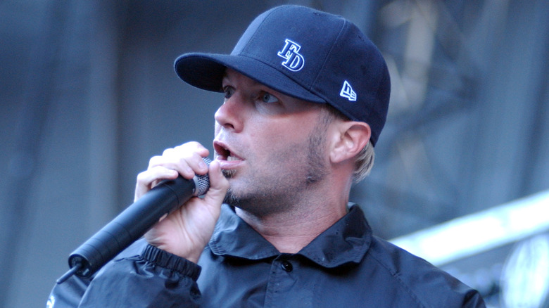
M231 55L185 54L175 70L225 94L215 160L208 169L196 142L165 150L135 197L178 174L208 173L208 193L94 278L56 286L53 307L484 307L476 291L372 236L348 203L372 167L390 91L381 53L355 25L280 6Z

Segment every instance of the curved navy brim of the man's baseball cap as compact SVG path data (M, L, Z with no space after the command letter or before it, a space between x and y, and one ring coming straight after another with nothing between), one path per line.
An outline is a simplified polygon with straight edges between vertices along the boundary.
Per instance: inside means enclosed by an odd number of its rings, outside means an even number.
M231 68L282 94L313 103L326 103L279 70L246 56L185 53L175 60L174 66L179 78L199 89L222 92L225 69Z

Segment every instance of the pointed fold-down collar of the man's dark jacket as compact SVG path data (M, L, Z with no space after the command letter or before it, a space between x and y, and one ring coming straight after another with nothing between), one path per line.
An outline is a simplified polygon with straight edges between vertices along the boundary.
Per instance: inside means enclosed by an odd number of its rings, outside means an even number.
M358 263L372 240L372 230L358 205L326 231L317 236L297 255L303 255L322 267L333 268ZM244 259L266 259L280 255L263 236L236 215L233 207L223 205L220 219L209 243L215 255Z

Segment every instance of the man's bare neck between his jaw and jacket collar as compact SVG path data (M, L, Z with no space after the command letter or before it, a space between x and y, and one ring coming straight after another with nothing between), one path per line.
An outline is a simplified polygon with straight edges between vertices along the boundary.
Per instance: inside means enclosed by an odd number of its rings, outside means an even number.
M236 214L279 252L297 253L347 214L352 168L289 198L248 200Z

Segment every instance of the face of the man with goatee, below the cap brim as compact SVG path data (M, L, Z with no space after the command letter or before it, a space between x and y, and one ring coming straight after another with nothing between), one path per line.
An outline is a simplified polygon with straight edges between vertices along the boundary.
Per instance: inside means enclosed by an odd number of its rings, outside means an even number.
M328 172L322 105L227 70L215 113L215 159L229 178L227 202L267 214L285 210Z

